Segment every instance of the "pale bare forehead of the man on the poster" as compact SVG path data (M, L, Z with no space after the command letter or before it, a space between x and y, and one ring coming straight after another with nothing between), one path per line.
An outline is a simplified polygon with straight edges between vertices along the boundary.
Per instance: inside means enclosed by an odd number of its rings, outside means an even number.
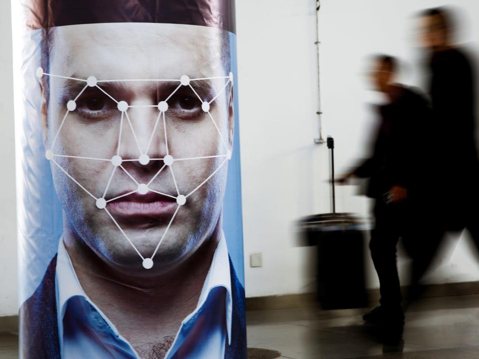
M57 27L50 68L114 78L218 75L221 30L158 23L101 23ZM215 71L215 72L214 72Z

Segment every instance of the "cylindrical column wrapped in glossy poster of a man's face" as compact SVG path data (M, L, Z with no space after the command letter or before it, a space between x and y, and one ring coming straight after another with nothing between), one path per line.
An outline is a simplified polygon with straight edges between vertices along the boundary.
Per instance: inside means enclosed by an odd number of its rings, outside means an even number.
M233 0L20 2L22 358L246 358Z

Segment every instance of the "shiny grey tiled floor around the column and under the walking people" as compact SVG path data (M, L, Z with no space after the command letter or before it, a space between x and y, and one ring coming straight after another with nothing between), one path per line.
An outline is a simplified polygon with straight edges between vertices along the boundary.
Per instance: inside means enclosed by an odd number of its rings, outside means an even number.
M362 310L247 313L248 347L288 359L479 359L479 295L422 300L407 313L404 343L386 346ZM17 358L18 337L0 334L0 358Z

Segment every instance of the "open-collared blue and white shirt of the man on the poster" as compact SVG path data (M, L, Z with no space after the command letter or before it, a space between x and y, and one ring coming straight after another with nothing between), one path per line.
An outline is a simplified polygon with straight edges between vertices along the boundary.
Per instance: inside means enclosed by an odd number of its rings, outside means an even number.
M81 288L63 240L58 247L55 280L61 358L140 358ZM224 359L226 345L231 344L231 326L230 263L222 235L198 305L182 321L164 358Z

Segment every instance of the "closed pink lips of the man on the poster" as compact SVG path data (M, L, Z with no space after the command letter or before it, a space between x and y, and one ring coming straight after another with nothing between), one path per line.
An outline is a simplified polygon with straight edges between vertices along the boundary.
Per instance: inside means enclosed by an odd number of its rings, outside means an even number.
M126 193L129 192L125 191L116 196L121 196ZM151 191L146 194L135 192L108 202L107 205L107 209L111 214L123 217L124 219L133 219L135 217L148 217L150 219L152 217L162 217L167 214L173 214L176 207L177 203L175 198Z

